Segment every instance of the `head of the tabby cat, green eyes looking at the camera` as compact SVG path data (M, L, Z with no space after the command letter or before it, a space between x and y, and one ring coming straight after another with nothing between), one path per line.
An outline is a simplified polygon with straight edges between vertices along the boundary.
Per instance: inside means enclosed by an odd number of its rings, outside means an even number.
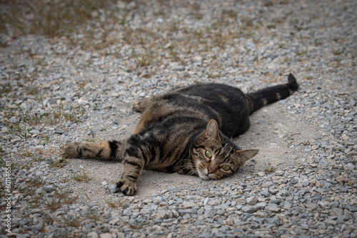
M236 150L226 143L218 130L216 120L208 122L205 131L193 145L193 160L198 176L203 180L218 180L238 171L238 168L258 153L258 150Z

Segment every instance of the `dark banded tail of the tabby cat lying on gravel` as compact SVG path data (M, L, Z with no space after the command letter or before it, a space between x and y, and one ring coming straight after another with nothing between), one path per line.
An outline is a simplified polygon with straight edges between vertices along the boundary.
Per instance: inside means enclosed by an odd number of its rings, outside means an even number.
M259 108L263 108L269 103L287 98L296 90L298 90L298 83L296 82L296 78L290 73L288 75L288 83L286 84L263 88L254 93L247 93L246 96L251 105L251 113Z

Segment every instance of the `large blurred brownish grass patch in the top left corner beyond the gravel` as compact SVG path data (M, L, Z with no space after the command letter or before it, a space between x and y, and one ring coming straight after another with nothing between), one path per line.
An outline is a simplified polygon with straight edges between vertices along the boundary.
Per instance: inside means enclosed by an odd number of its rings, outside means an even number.
M96 16L97 9L106 9L116 1L0 1L0 31L11 27L17 35L41 34L49 37L64 36L76 31Z

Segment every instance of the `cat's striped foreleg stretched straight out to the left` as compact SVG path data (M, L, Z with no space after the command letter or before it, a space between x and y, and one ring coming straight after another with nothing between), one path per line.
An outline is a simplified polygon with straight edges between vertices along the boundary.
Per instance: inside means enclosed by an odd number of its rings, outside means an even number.
M60 149L62 157L95 158L119 161L124 157L126 141L103 141L99 143L69 143Z

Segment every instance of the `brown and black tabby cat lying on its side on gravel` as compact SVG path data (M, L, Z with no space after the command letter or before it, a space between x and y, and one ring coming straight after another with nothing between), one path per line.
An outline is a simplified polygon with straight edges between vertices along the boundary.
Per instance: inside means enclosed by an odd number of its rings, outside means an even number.
M133 109L143 114L130 138L69 143L61 155L122 161L123 172L116 186L124 195L136 194L143 169L218 180L233 175L258 153L241 150L230 140L248 130L248 116L297 89L292 74L284 85L246 95L218 83L178 88L135 103Z

